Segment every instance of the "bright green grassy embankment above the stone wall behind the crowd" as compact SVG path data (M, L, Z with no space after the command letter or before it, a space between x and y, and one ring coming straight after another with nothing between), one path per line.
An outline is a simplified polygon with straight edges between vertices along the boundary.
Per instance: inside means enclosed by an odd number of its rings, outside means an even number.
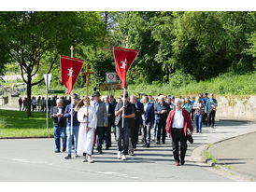
M50 86L50 89L65 89L63 85ZM90 88L90 94L92 94ZM74 92L80 95L86 93L86 88L78 89L76 84ZM219 75L218 77L208 79L206 81L192 81L190 83L183 82L180 86L174 87L171 84L163 84L161 82L153 82L152 84L128 84L129 94L136 94L144 92L149 95L157 95L162 93L164 95L197 95L200 92L213 92L218 95L255 95L256 94L256 72L248 73L245 75L235 75L227 73ZM101 91L101 95L109 94L109 91ZM113 92L115 96L121 95L121 90ZM33 95L45 95L45 86L34 87Z

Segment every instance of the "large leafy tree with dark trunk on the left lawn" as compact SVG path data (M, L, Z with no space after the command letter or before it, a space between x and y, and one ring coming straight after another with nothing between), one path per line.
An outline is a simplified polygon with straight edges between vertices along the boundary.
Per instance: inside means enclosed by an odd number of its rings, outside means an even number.
M50 73L60 54L69 55L71 45L95 45L106 34L97 12L1 12L0 27L0 44L19 63L27 85L28 117L31 89L44 80L33 77L40 70Z

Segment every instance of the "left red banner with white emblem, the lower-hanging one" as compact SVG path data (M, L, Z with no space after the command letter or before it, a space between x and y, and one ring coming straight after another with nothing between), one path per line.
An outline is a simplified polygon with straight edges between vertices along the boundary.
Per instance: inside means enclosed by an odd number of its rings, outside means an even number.
M62 82L66 87L66 93L70 94L77 81L84 60L61 55Z

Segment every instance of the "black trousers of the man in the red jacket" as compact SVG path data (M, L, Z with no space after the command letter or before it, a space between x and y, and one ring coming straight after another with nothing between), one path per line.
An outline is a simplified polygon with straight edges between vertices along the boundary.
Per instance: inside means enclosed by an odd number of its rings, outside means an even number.
M179 163L178 143L180 143L180 159L185 160L187 151L187 138L183 129L172 129L173 154L176 162Z

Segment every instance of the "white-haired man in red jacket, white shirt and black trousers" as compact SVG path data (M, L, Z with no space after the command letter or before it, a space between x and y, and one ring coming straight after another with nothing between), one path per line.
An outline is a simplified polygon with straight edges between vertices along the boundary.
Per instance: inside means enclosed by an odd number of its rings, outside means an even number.
M192 119L190 113L181 108L180 99L175 100L176 108L169 112L166 120L165 130L167 136L172 136L173 154L176 165L179 166L178 143L180 143L180 163L185 164L185 156L187 151L187 129L192 134Z

